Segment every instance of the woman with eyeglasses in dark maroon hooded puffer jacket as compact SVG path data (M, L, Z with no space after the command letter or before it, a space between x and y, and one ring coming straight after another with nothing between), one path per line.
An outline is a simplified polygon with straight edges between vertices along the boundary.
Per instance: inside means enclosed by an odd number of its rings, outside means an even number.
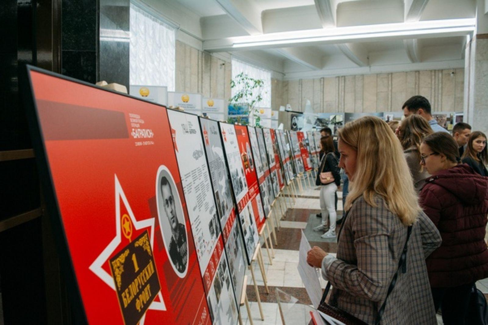
M488 178L458 164L458 145L444 132L424 138L420 159L431 174L420 205L443 239L426 260L435 310L444 324L465 324L471 289L488 277Z

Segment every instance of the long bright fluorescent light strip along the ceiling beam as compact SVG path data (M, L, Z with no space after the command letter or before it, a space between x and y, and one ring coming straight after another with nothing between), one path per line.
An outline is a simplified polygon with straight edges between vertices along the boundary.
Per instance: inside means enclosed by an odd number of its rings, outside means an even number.
M410 35L416 36L446 32L469 33L474 31L475 23L476 19L444 19L271 33L231 39L233 41L232 46L237 48L303 42L334 41L343 39L351 40L358 38L381 38Z

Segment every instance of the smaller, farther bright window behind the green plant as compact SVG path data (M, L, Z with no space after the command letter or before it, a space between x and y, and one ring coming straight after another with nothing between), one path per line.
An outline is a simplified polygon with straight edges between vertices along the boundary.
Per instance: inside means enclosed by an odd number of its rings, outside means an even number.
M271 71L254 67L242 61L232 59L232 79L239 75L241 72L247 74L247 76L254 79L263 79L264 85L261 89L261 96L263 100L256 104L256 107L271 107ZM238 86L232 88L232 96L238 93ZM258 94L254 94L256 97ZM249 102L252 98L247 98L245 102Z

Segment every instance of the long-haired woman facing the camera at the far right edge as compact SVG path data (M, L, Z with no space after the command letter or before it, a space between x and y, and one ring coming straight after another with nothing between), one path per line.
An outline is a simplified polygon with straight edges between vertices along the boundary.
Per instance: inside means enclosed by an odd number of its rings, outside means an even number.
M480 131L469 135L468 147L463 154L462 161L482 176L488 176L486 165L488 163L487 136Z

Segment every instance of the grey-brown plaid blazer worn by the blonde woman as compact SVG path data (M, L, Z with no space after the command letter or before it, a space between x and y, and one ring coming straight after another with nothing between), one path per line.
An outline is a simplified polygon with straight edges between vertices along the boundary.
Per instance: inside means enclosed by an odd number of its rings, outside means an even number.
M407 227L375 198L377 208L357 198L339 237L337 260L325 270L333 290L329 303L374 324L407 240ZM407 272L399 272L381 324L437 324L425 259L441 236L424 212L412 227Z

